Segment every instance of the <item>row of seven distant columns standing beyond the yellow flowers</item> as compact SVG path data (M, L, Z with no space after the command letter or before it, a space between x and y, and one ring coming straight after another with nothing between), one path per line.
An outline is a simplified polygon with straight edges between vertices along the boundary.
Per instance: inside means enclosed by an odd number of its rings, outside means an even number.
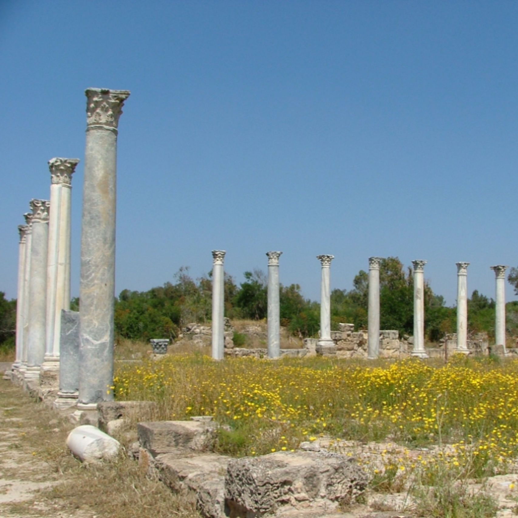
M212 266L212 357L223 359L224 355L224 250L213 250ZM268 256L268 357L280 356L280 299L279 257L282 252L266 252ZM320 305L320 347L333 346L331 338L330 310L330 265L333 255L318 255L322 265ZM367 357L375 359L380 353L380 265L383 257L369 257L368 274L368 338ZM424 347L424 266L427 261L412 261L414 276L414 331L412 356L427 358ZM456 352L468 353L467 343L467 268L469 263L458 262L457 266L457 347ZM495 341L505 352L505 271L507 266L491 266L496 274L496 323Z

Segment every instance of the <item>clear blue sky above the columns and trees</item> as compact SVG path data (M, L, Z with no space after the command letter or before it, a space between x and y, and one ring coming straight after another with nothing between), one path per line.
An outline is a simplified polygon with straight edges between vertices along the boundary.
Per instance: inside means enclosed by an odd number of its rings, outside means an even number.
M494 297L518 265L518 2L3 0L0 290L53 156L83 159L87 87L131 90L119 124L117 294L225 269L318 299L371 255L449 304L456 261ZM79 293L82 162L73 179ZM507 297L513 298L507 285Z

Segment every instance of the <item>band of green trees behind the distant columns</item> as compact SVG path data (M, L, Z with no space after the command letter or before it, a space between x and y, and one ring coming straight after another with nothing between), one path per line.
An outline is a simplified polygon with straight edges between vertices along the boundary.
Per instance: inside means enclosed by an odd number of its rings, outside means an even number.
M518 294L518 268L511 268L509 281ZM247 271L244 281L236 285L225 274L225 315L231 319L262 320L267 315L267 278L262 270ZM361 270L353 289L331 293L332 327L349 322L356 329L367 327L368 275ZM72 301L79 308L79 300ZM189 268L182 267L174 282L145 292L123 290L115 305L116 333L120 337L144 339L163 336L175 338L191 322L208 322L211 318L212 281L210 274L194 280ZM380 327L397 329L401 334L413 330L413 274L397 257L388 257L380 265ZM305 299L298 284L281 285L281 325L299 337L316 336L320 328L320 304ZM471 332L494 333L495 303L474 291L468 300L468 325ZM508 330L518 334L518 302L507 305ZM6 300L0 292L0 344L14 343L16 300ZM427 339L437 341L445 333L454 333L456 310L444 305L442 296L425 285L425 332Z

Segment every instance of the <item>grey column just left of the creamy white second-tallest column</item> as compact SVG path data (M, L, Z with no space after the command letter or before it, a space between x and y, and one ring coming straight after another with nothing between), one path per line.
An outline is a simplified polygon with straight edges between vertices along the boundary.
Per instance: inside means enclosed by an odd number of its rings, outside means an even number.
M33 219L25 378L39 378L40 366L45 357L50 202L45 199L32 199L30 205L33 211Z

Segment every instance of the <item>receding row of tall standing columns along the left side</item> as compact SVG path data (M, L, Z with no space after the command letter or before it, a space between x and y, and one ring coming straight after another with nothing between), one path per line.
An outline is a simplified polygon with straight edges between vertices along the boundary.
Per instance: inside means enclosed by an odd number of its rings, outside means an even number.
M118 123L126 90L89 88L81 220L78 407L113 398ZM70 309L71 179L78 159L54 158L50 200L32 199L18 227L16 361L24 378L60 368L62 310ZM60 373L61 379L66 378ZM76 389L76 390L77 390ZM66 392L69 391L67 387Z

